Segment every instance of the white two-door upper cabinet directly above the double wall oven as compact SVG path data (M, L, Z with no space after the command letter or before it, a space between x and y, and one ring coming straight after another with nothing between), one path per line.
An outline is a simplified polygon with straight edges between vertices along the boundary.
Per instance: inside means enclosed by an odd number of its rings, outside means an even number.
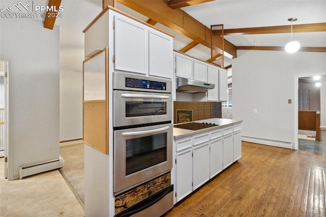
M85 55L109 48L115 72L127 71L172 78L173 37L146 23L114 10L107 10L85 33Z

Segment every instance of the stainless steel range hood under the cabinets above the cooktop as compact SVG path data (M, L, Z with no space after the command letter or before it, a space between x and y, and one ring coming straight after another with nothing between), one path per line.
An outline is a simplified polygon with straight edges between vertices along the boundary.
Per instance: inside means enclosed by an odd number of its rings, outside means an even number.
M200 82L199 80L192 80L183 77L176 78L177 92L183 93L200 93L207 92L209 89L214 89L214 84Z

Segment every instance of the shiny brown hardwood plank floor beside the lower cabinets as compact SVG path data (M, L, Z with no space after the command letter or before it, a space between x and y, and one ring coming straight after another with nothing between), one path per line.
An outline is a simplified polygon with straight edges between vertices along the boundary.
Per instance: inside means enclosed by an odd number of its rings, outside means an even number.
M326 216L326 154L242 142L242 157L165 216Z

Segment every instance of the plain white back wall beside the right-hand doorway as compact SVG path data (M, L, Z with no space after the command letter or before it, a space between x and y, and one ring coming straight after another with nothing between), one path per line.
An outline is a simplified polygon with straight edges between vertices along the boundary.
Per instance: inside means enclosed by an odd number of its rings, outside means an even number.
M295 76L326 73L325 59L321 52L238 50L232 62L232 97L233 118L243 120L242 135L271 140L269 145L293 144Z

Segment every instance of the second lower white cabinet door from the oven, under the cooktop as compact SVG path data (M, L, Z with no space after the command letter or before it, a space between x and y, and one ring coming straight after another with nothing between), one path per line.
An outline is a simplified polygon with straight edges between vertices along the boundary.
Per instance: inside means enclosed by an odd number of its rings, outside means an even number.
M193 147L193 190L209 180L209 142Z

